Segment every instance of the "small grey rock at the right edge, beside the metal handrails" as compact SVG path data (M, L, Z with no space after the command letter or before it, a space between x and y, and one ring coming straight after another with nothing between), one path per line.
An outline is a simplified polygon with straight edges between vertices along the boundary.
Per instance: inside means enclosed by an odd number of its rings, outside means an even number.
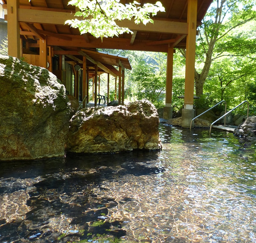
M237 135L248 140L256 140L256 117L248 117L235 130L234 135Z

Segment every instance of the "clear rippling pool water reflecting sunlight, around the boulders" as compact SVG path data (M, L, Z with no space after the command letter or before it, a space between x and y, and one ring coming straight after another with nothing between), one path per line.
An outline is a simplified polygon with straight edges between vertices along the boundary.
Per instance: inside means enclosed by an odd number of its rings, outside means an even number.
M0 242L256 242L256 153L160 125L160 152L2 162Z

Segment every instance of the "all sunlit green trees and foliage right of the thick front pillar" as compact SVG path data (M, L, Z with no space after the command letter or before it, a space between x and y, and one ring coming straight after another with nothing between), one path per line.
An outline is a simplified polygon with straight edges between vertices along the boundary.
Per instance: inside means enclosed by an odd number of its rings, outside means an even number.
M195 93L200 101L195 104L213 106L221 100L230 108L244 100L255 104L255 5L255 0L213 1L199 27Z

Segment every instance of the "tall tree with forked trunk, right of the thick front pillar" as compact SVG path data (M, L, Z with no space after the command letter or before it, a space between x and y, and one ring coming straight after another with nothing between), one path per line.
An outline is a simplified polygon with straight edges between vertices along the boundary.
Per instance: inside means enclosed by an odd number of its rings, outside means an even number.
M243 50L250 49L252 43L248 46L248 42L243 42L247 38L240 39L242 36L238 38L234 33L241 27L245 28L246 23L255 19L254 5L255 0L214 0L199 28L195 71L197 96L203 94L204 84L215 60L225 55L234 55L245 46ZM182 53L186 55L185 52ZM244 51L239 54L246 55Z

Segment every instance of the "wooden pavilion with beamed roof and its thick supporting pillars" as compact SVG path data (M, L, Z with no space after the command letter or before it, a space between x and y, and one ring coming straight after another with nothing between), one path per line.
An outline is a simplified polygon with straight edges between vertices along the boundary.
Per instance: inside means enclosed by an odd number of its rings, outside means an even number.
M189 127L194 117L197 27L201 24L212 0L162 0L166 12L161 12L153 18L154 24L149 23L145 26L136 25L133 21L121 21L118 24L128 27L133 34L122 34L118 38L103 38L103 41L90 34L80 35L77 29L64 25L67 19L73 18L76 11L72 5L67 5L65 0L3 0L3 2L4 8L7 9L9 55L20 58L22 53L37 53L40 57L38 66L41 67L47 68L48 56L61 55L59 66L63 60L72 56L73 61L83 65L83 69L86 70L85 67L90 60L84 52L93 51L95 48L166 52L168 55L165 119L172 118L173 53L176 48L186 49L182 126ZM120 0L120 2L125 4L126 0ZM139 0L138 2L154 4L156 1ZM50 62L51 58L49 59L51 71ZM121 103L125 66L118 57L115 58L115 63L118 67L118 102ZM98 61L95 61L94 68L97 73ZM63 82L65 73L62 69L58 70ZM88 75L87 72L83 75L83 85L86 85L87 81L84 80L88 80Z

